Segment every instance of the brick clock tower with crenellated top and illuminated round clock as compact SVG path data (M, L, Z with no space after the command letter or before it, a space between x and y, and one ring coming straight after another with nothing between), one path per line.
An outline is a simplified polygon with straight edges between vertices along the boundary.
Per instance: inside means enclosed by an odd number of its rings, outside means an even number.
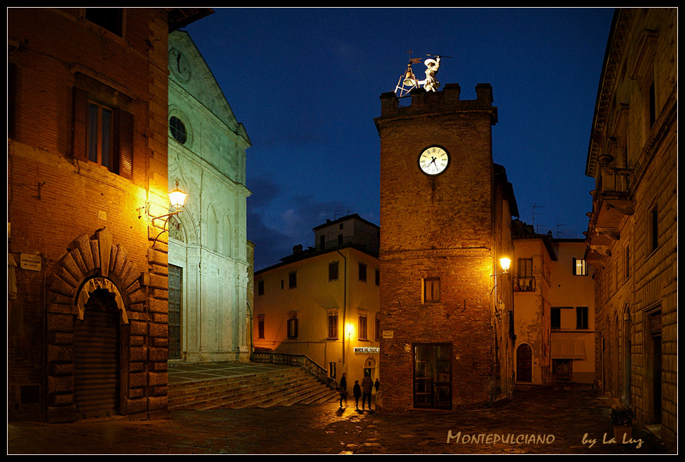
M513 388L513 256L518 215L492 160L489 84L381 95L381 407L456 409ZM510 333L511 332L511 333Z

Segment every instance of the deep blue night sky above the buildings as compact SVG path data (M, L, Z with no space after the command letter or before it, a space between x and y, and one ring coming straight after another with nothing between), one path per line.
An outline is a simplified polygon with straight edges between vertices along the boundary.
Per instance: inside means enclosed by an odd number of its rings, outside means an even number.
M427 54L452 57L438 81L459 83L462 100L491 84L493 158L520 219L583 238L595 186L585 160L613 8L215 11L186 30L252 141L255 270L293 245L314 245L312 228L326 219L358 213L380 224L379 97L395 90L410 56ZM423 64L413 67L422 79Z

